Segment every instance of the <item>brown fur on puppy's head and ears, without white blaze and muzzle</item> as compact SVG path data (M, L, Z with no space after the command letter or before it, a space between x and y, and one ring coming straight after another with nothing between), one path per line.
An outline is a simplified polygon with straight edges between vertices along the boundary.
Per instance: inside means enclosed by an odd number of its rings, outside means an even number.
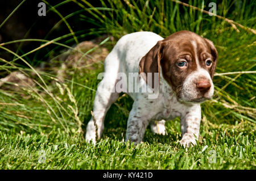
M192 41L195 41L197 44L197 55L195 54ZM199 58L201 68L209 71L209 74L213 78L218 53L212 41L204 39L190 31L179 31L162 41L158 41L158 43L142 57L141 62L139 62L139 74L146 73L147 83L147 73L152 73L152 80L154 80L154 73L159 73L160 79L161 66L164 79L166 79L179 98L185 78L192 73L192 71L197 69L196 56ZM207 58L210 58L213 62L210 67L205 65ZM187 68L181 69L177 66L177 62L181 59L187 61ZM154 81L152 81L152 85L149 86L154 88Z

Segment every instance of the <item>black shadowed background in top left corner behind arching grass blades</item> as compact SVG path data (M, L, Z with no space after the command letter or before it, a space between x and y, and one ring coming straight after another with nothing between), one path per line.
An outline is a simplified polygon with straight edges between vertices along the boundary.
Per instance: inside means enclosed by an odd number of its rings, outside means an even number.
M1 0L0 1L0 24L11 14L11 12L22 2L17 0ZM46 39L52 40L56 37L60 37L62 35L66 35L70 33L66 24L64 22L60 23L60 26L55 28L51 33L48 32L52 29L52 27L61 20L60 16L57 15L53 11L49 10L49 6L46 5L46 16L39 16L38 3L42 2L39 0L27 0L25 1L18 10L14 12L14 14L7 20L7 22L0 28L0 43L20 40L20 39ZM61 0L48 1L52 6L57 5ZM90 2L93 6L99 6L100 1L92 1ZM71 14L72 12L81 10L80 6L77 6L76 3L69 2L63 6L59 6L56 8L61 15L64 17ZM82 12L83 15L88 15L88 12ZM81 30L88 30L90 28L96 27L93 23L83 22L81 21L80 15L77 14L71 18L67 19L69 25L71 26L74 32ZM47 36L47 37L46 37ZM88 35L79 39L79 41L93 39L96 35ZM61 43L61 41L58 41ZM33 42L28 41L26 43L22 43L22 47L19 49L24 53L29 52L30 50L37 48L41 42ZM69 43L69 45L76 44L75 41ZM10 50L16 52L20 43L10 44L5 46ZM51 48L51 46L49 46ZM22 53L23 53L22 52ZM39 55L37 57L42 57L47 53L47 49L41 49ZM10 60L14 56L6 51L0 50L0 57L5 58L6 60ZM28 58L34 57L34 53L30 54ZM40 62L39 60L38 62ZM45 61L45 60L44 60ZM38 64L38 62L34 62Z

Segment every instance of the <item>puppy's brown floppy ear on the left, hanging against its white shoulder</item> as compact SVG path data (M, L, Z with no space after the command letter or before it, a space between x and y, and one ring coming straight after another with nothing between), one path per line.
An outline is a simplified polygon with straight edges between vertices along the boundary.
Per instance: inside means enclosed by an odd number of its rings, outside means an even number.
M156 43L156 45L151 48L144 57L142 57L141 62L139 62L139 74L142 75L142 78L147 82L148 86L152 87L152 89L154 89L155 86L159 87L162 50L163 42L158 41L158 43ZM148 77L148 73L152 73L152 77ZM154 85L154 73L158 73L158 85ZM146 77L144 77L144 75L146 75ZM152 78L152 80L149 78Z

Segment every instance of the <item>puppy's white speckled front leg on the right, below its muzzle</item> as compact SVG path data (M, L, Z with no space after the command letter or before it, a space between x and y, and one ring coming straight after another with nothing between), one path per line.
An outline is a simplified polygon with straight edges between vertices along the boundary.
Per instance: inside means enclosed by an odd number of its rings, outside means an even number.
M196 139L199 137L200 121L201 107L199 104L189 108L187 112L181 115L181 145L184 147L192 146L191 144L196 145Z

